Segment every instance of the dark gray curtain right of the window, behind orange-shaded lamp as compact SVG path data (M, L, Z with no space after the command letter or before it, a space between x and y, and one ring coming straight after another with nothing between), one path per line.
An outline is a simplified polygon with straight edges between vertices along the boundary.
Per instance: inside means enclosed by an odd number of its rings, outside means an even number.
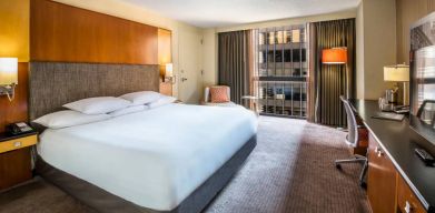
M355 97L355 19L309 23L309 42L307 119L326 125L344 126L346 113L339 95ZM337 47L347 48L347 63L323 64L322 50Z

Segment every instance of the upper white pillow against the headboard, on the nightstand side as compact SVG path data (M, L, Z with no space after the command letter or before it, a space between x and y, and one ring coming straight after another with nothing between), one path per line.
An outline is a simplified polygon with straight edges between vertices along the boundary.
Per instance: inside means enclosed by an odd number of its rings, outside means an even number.
M63 108L85 114L105 114L131 105L131 102L115 97L97 97L67 103Z

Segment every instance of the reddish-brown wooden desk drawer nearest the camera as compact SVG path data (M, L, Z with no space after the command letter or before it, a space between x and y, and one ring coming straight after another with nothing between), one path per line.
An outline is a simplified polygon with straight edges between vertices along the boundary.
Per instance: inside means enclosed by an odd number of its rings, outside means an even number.
M425 213L426 210L399 175L397 180L397 207L402 213Z

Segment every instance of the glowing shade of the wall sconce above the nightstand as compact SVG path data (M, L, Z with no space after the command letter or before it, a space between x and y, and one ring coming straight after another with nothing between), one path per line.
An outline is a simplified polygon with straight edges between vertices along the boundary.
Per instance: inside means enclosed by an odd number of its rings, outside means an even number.
M0 85L18 83L18 59L0 58Z

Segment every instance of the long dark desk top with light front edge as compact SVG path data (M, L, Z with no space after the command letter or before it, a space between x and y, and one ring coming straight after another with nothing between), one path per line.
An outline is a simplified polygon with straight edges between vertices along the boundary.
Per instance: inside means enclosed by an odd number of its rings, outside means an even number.
M417 143L408 119L402 122L373 119L372 115L379 111L377 101L349 102L423 205L435 211L435 168L426 166L415 154Z

